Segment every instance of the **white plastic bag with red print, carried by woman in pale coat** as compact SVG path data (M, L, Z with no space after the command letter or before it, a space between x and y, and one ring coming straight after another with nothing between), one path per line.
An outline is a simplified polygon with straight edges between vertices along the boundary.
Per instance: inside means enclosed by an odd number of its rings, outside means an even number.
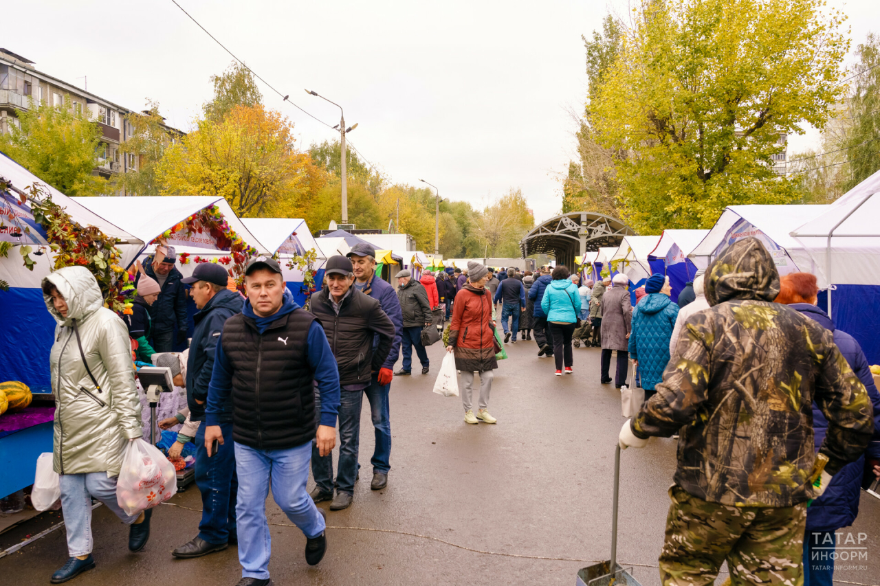
M177 472L158 448L140 438L126 443L116 481L116 502L126 515L151 509L176 492Z

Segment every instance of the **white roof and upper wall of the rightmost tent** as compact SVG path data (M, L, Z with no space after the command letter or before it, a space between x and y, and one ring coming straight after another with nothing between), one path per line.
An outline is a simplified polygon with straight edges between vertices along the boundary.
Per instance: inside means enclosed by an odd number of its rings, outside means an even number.
M819 287L880 285L880 171L790 231L816 265Z

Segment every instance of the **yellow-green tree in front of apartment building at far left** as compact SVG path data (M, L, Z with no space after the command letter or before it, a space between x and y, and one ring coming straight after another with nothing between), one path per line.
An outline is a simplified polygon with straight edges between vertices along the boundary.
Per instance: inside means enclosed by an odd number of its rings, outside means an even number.
M98 124L75 111L70 99L63 106L28 101L28 109L18 114L21 127L13 124L0 136L0 149L62 194L106 193L106 179L92 175L101 143Z

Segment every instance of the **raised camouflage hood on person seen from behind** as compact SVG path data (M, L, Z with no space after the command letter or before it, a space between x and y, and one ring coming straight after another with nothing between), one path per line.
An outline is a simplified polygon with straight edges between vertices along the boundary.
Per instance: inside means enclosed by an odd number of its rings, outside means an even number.
M705 288L709 306L733 299L773 303L779 295L779 272L758 238L743 238L725 248L709 265Z

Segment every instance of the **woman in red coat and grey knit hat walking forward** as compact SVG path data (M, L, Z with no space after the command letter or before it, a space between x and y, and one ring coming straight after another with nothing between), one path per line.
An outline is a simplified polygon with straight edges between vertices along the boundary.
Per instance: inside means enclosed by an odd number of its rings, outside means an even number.
M467 282L455 296L452 323L449 329L448 352L455 352L455 368L461 374L461 402L465 407L465 422L495 423L487 411L489 391L492 389L492 370L498 368L495 360L495 322L492 321L492 295L486 289L491 278L488 269L478 262L467 263ZM473 414L473 373L480 373L480 411Z

